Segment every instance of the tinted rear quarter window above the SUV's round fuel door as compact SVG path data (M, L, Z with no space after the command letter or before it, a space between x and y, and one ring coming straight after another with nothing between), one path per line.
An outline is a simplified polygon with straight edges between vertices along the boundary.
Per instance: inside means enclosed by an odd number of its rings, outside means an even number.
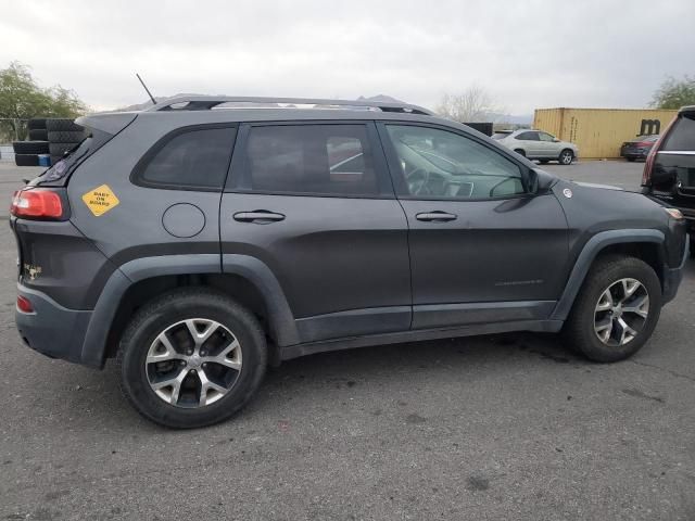
M182 129L165 137L140 161L136 185L179 190L222 190L229 169L236 129Z

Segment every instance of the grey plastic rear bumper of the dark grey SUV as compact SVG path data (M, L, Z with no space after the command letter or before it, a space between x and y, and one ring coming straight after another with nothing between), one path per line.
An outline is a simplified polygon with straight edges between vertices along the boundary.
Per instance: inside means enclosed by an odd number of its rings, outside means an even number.
M99 367L83 357L92 312L68 309L45 293L21 283L17 284L17 293L28 298L34 307L33 313L15 308L17 330L25 344L50 358Z

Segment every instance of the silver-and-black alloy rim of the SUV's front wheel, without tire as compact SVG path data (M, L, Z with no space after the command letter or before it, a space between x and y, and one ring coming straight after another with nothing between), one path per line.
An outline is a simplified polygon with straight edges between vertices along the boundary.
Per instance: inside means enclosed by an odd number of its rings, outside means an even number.
M598 297L594 331L608 346L622 346L635 339L649 316L649 294L636 279L620 279Z

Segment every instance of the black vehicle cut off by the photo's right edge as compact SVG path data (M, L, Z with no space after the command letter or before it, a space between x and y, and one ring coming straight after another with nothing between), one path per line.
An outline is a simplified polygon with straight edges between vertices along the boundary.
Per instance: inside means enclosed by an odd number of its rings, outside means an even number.
M652 148L642 192L679 208L695 237L695 105L681 109ZM695 250L691 250L695 257Z

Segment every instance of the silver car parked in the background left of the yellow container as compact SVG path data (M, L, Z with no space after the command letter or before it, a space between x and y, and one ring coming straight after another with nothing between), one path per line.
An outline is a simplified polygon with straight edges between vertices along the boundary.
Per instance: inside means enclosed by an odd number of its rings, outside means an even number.
M541 130L520 129L508 134L497 132L495 136L498 143L528 160L539 160L541 163L557 161L560 165L571 165L579 156L579 149L574 143L560 141Z

